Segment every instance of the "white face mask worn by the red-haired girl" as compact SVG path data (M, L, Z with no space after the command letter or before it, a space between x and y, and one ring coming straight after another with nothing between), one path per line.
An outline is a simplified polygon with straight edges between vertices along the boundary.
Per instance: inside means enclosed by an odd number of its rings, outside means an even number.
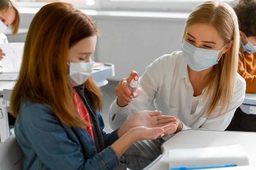
M70 66L70 81L72 87L82 85L92 75L93 64L91 60L88 63L67 63Z

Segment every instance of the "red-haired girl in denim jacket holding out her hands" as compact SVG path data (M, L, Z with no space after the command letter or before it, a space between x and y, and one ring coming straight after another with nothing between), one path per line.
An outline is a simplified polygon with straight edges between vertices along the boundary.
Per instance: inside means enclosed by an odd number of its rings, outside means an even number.
M102 94L90 76L98 34L90 17L67 3L47 4L32 20L10 103L23 169L124 170L119 157L132 143L177 128L172 116L141 111L103 131Z

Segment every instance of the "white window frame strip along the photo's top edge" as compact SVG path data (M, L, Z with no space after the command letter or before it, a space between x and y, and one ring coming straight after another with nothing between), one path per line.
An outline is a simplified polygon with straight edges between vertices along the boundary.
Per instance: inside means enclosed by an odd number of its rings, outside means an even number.
M79 9L95 9L95 10L115 10L115 11L161 11L161 12L191 12L198 4L204 0L95 0L93 6L85 3L72 3L74 7ZM227 4L237 3L238 0L221 0ZM40 8L51 2L25 2L24 0L16 1L18 7Z

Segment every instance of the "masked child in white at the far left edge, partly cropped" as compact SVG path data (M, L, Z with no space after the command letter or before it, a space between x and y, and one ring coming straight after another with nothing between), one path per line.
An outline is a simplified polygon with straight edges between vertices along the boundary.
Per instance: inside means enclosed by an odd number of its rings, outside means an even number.
M20 13L14 0L1 0L0 1L0 44L8 43L6 35L3 31L7 26L11 26L11 35L15 36L18 33L20 25ZM0 60L4 56L4 52L0 49ZM1 63L2 64L2 63Z

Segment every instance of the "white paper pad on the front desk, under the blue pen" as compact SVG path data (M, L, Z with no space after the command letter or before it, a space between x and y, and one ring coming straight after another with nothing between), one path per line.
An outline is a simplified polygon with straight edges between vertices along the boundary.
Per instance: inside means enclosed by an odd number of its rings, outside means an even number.
M240 144L230 146L169 150L169 168L191 165L234 164L248 166L247 153ZM224 168L226 169L226 168Z

